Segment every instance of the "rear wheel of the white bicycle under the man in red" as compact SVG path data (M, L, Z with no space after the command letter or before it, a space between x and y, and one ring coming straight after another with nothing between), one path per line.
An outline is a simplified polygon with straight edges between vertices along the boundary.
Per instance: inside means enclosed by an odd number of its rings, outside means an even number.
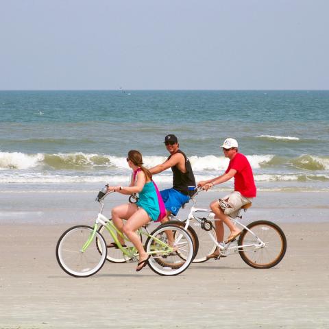
M279 226L271 221L254 221L239 237L239 254L255 269L269 269L278 265L287 249L287 239ZM263 243L263 245L262 245Z

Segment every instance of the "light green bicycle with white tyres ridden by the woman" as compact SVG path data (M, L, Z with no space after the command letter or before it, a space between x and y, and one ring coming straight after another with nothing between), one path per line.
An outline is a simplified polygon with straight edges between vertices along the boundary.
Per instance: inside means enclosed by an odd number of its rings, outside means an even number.
M102 214L104 199L112 192L99 192L97 201L101 204L101 210L93 227L73 226L66 230L56 245L56 258L60 267L70 276L88 277L97 273L104 265L108 246L99 232L99 226L106 228L112 241L117 244L118 251L122 253L125 262L136 262L138 252L129 239L124 236L114 223ZM174 236L173 245L169 245L166 231L171 230ZM138 234L147 237L145 241L145 252L151 255L147 265L160 276L176 276L185 271L193 259L193 239L182 226L171 223L158 226L151 234L140 228ZM117 239L117 234L122 236L126 247L123 247Z

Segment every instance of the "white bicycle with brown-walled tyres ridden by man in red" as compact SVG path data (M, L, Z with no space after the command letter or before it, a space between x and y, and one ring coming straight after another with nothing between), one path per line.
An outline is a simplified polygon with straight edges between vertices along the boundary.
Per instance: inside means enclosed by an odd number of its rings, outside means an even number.
M241 207L235 219L230 218L235 225L241 227L239 239L217 243L215 214L209 209L196 208L196 197L200 191L202 188L197 188L191 197L193 206L187 219L183 221L185 229L191 227L197 233L199 249L193 263L206 262L206 256L215 252L217 247L219 256L215 259L239 252L243 261L256 269L269 269L280 263L287 249L287 239L282 229L271 221L254 221L245 226L237 219L242 219L242 210L247 211L252 203Z

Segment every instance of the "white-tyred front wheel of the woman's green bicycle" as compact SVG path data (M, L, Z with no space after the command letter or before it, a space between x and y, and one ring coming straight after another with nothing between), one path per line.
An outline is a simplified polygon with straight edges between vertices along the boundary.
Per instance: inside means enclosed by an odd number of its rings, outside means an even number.
M70 276L92 276L105 263L107 250L103 236L96 232L93 241L90 241L92 236L93 228L84 225L69 228L60 236L56 258L63 271ZM99 252L95 238L98 239L102 252Z

